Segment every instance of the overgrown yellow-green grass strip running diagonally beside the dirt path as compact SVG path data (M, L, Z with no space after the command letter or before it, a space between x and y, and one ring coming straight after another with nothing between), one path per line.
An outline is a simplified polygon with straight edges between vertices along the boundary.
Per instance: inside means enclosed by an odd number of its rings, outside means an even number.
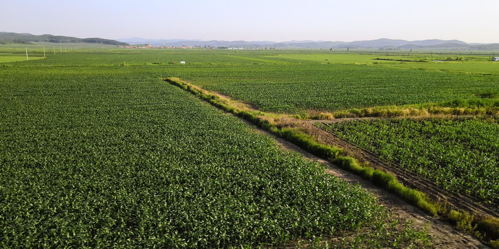
M362 165L358 163L356 159L344 154L343 149L340 149L338 147L331 147L329 145L323 145L317 142L312 136L299 131L299 129L278 127L274 122L270 121L268 118L265 118L266 113L256 111L254 109L251 109L250 107L247 107L245 104L240 104L239 102L235 102L228 98L222 98L216 93L211 93L207 90L201 89L200 87L194 86L193 84L190 84L188 82L184 82L177 77L167 77L162 80L178 86L185 91L189 91L201 100L207 101L215 107L218 107L229 113L233 113L240 118L244 118L245 120L258 125L259 127L270 131L276 136L293 142L299 147L306 149L312 154L315 154L316 156L326 158L331 163L334 163L335 165L338 165L343 169L347 169L349 172L353 172L358 176L362 176L362 178L372 181L379 187L383 187L390 192L394 192L405 201L417 205L419 208L425 210L429 214L432 214L434 216L440 215L446 217L448 221L456 224L459 230L463 230L464 232L472 234L473 236L481 240L487 239L489 241L489 245L493 246L493 248L499 248L499 219L496 217L475 216L474 214L469 214L468 212L448 208L446 203L431 200L425 193L420 192L419 190L411 189L410 187L406 187L405 185L397 181L396 177L392 174L374 169L372 167L369 167L368 165ZM389 108L380 110L388 109ZM394 108L392 107L392 109ZM461 110L461 108L459 107L435 107L435 110L445 111L447 109L450 110L453 114L455 114L455 110ZM466 107L464 110L467 109L476 109L476 107ZM493 109L494 111L496 111L495 108ZM490 109L489 111L485 111L480 107L478 108L478 110L480 110L478 111L478 113L480 114L489 114L490 111ZM364 113L369 112L366 111ZM372 113L376 112L371 112L371 115ZM399 111L396 111L394 113L399 113ZM426 111L426 113L428 112ZM442 112L431 111L431 113ZM458 113L460 113L460 111L458 111ZM466 111L466 114L472 113L476 112ZM464 112L462 114L464 114ZM327 114L321 113L321 115L325 115L326 118L329 118L329 115ZM331 116L333 116L332 113Z

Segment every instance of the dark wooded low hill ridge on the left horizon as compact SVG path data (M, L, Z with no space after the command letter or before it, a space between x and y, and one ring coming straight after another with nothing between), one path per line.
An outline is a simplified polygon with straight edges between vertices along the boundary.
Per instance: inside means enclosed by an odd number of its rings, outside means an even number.
M76 38L55 35L31 35L27 33L0 32L0 44L30 44L31 42L53 42L53 43L91 43L110 44L116 46L128 46L125 42L102 38Z

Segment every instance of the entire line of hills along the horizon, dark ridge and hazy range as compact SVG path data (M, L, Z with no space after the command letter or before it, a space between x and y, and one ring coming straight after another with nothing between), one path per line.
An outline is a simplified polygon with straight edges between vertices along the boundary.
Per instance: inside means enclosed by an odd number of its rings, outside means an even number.
M499 50L499 44L467 44L459 40L426 39L405 41L402 39L375 39L357 42L326 41L203 41L200 39L128 39L77 38L55 35L31 35L27 33L0 32L0 44L30 44L32 42L91 43L129 46L130 44L150 44L151 46L192 46L212 48L323 48L323 49L448 49L448 50Z

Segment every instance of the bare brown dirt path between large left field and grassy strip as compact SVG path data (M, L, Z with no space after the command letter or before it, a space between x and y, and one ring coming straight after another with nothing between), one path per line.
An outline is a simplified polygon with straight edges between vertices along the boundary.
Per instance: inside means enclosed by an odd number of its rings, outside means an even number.
M274 136L272 133L269 133L268 131L265 131L263 129L259 129L249 122L247 123L254 127L256 131L272 136L277 141L279 147L297 151L303 154L309 160L317 161L319 163L327 165L325 170L326 174L338 176L349 183L360 184L365 190L371 192L372 194L374 194L374 196L377 197L378 203L380 205L388 208L390 212L392 212L396 216L399 216L400 219L414 221L414 226L416 228L423 229L426 225L428 225L428 223L430 223L428 234L430 234L430 237L432 238L432 244L435 248L489 248L489 246L485 245L478 239L471 237L469 234L464 234L463 232L456 230L455 228L453 228L453 225L450 225L450 223L448 223L446 220L435 218L434 216L427 214L416 206L403 201L403 199L401 199L399 196L396 196L388 192L387 190L374 185L371 181L365 180L360 176L356 176L351 172L341 169L340 167L333 165L323 158L318 158L317 156L310 154L308 151L301 149L292 142L288 142L283 138Z

